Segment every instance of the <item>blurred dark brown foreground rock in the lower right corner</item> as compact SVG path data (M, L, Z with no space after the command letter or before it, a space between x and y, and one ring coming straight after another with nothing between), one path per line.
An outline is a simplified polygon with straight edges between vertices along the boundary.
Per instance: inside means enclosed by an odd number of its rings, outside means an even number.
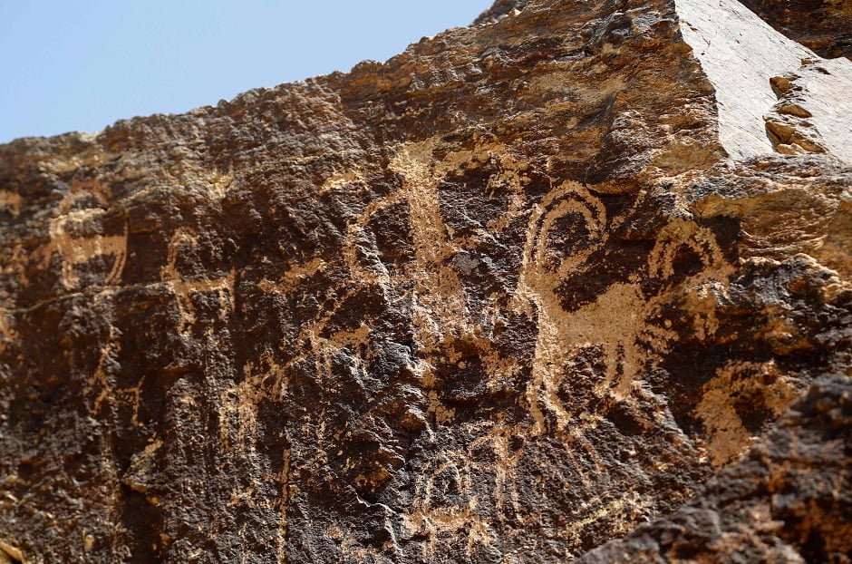
M847 562L850 444L847 378L820 378L701 496L576 561Z

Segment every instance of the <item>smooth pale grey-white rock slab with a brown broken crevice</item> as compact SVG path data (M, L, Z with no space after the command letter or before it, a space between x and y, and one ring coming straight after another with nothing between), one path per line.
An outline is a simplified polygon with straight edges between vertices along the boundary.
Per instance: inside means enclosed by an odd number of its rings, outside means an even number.
M820 59L737 0L679 0L677 12L716 90L732 157L828 151L852 164L852 62Z

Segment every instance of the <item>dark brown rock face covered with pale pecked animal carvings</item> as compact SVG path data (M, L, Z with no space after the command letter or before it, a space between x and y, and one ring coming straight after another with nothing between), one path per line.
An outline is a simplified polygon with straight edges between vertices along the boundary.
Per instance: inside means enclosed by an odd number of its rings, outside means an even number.
M700 7L0 146L0 561L847 561L850 64Z

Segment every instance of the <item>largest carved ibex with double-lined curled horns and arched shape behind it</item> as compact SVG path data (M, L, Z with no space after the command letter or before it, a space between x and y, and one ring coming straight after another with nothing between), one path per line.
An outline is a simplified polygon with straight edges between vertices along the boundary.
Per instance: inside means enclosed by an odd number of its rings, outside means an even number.
M648 363L668 351L676 334L649 322L658 311L658 298L645 296L633 280L673 277L675 258L683 248L701 261L699 271L690 277L694 287L723 280L730 270L709 229L675 219L660 230L654 248L641 263L644 266L626 282L614 283L591 303L567 311L557 288L577 272L586 277L605 276L595 270L600 266L588 261L606 246L607 234L618 229L624 217L607 218L600 200L573 182L549 192L533 209L513 303L519 312L537 318L536 355L526 394L535 433L564 431L569 423L576 433L578 424L595 424L595 414L587 413L587 406L581 410L586 423L580 423L576 416L581 413L569 413L559 398L566 378L576 373L577 357L585 358L584 363L601 363L603 370L593 371L598 377L593 390L605 400L605 407L624 401L632 404L630 396L638 393L634 386L637 377ZM709 335L714 330L712 308L705 313L706 317L696 314L694 323L702 335ZM552 424L547 424L548 417L553 418Z

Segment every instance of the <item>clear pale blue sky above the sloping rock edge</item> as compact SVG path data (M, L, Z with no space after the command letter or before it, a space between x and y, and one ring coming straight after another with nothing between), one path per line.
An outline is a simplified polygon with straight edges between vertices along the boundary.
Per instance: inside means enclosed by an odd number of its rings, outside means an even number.
M470 24L491 0L0 0L0 142L186 112Z

